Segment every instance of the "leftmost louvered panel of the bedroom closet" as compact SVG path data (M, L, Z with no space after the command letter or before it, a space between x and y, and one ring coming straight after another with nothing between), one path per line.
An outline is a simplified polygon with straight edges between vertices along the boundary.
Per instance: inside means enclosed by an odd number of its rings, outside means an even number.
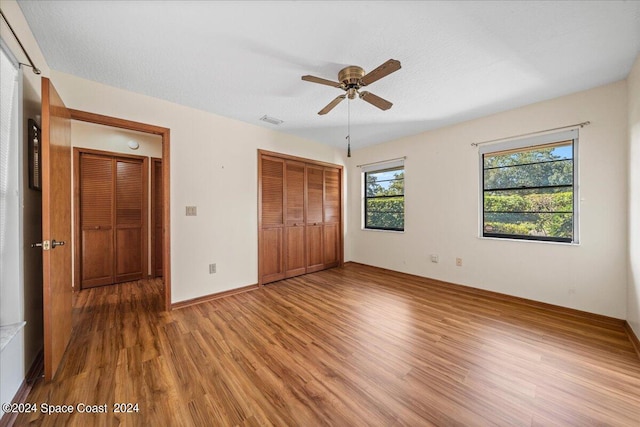
M284 279L284 160L260 160L261 283Z

